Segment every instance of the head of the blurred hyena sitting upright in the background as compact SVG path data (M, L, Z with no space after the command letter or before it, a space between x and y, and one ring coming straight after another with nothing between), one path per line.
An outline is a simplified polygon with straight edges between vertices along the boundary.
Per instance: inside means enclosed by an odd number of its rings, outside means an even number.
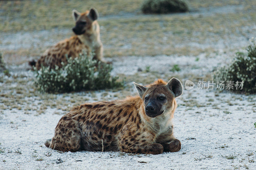
M90 11L84 13L79 13L76 10L73 10L72 16L76 21L76 26L72 28L76 35L81 35L86 33L87 30L91 30L93 21L99 18L99 14L94 8L91 8Z

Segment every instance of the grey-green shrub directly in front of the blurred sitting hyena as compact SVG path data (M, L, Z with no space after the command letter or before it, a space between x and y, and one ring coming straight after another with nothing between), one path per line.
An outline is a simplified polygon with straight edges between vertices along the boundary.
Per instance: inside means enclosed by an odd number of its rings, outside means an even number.
M81 90L98 90L122 87L123 82L118 82L117 77L112 77L112 66L92 60L85 53L79 57L68 58L68 63L55 69L42 67L36 70L35 85L41 92L71 92Z

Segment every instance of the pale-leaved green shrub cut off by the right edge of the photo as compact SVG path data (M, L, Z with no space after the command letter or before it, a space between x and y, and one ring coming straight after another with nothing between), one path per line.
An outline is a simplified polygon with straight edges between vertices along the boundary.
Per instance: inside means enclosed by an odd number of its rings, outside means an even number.
M216 81L244 81L242 89L230 89L245 93L256 93L256 39L251 39L246 47L247 53L236 53L228 66L220 67L214 72Z

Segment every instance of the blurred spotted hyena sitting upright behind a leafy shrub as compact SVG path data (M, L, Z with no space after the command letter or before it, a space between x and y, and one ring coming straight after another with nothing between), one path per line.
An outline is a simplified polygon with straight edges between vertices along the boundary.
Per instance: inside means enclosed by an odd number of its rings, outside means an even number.
M103 45L100 41L100 26L97 22L98 11L94 8L84 13L73 10L72 16L76 21L76 26L72 29L76 35L47 49L37 62L32 60L29 65L36 66L37 70L41 68L41 65L50 66L50 68L55 68L55 65L62 67L61 62L67 63L66 55L68 58L76 58L83 49L87 54L94 50L94 59L105 62Z

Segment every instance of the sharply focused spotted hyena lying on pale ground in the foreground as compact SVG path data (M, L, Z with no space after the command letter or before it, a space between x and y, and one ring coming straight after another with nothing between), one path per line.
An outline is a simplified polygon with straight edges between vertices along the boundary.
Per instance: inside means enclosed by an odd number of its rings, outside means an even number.
M64 115L45 146L59 151L121 151L160 154L177 152L173 136L175 98L182 94L176 78L158 79L148 86L134 83L139 96L87 103Z

